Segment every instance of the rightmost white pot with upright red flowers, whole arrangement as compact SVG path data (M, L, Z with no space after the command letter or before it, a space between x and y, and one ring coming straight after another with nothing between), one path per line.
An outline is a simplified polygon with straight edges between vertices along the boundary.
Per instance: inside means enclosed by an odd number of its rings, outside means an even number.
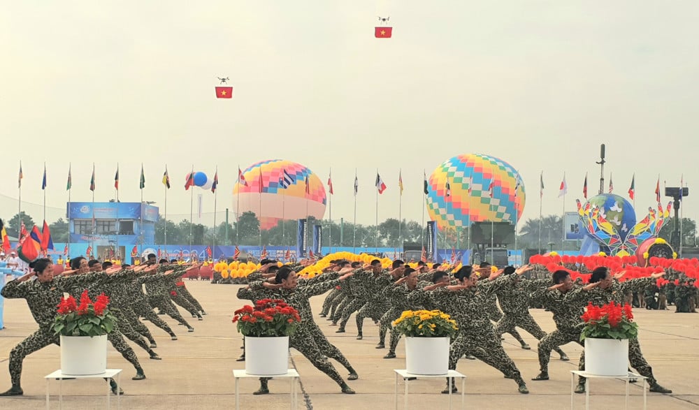
M626 376L628 339L638 335L630 305L613 301L602 307L589 303L582 315L585 327L585 372L600 376Z

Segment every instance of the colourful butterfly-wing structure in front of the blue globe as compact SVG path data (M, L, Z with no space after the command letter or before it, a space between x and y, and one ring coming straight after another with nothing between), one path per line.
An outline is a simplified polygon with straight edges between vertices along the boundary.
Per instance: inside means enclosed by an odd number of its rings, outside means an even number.
M658 203L658 209L648 208L647 216L633 227L621 224L619 214L611 221L607 219L604 208L591 203L584 206L580 200L577 203L577 213L580 222L586 228L589 235L595 238L600 244L604 244L610 249L610 254L614 256L629 256L635 254L637 247L649 237L658 237L665 221L670 217L672 202L663 209L663 205ZM623 203L615 203L610 207L610 211L621 212ZM621 226L620 226L621 225Z

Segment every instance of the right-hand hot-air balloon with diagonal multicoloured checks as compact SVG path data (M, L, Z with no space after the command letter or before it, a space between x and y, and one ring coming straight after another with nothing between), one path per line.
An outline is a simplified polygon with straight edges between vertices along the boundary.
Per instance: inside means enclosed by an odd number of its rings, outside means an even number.
M525 199L524 182L517 170L489 155L454 156L438 166L428 180L427 210L440 229L480 221L514 224L524 211Z

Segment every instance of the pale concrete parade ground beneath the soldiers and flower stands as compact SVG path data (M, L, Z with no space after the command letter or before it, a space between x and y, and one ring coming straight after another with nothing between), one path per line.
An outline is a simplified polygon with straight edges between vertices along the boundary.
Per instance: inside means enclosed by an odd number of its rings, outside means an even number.
M178 334L178 341L171 341L165 332L146 322L157 340L156 351L163 360L149 360L147 353L131 344L145 369L147 379L132 381L135 371L119 353L109 348L108 367L124 369L122 396L124 409L231 409L235 405L232 369L243 369L244 363L236 362L240 356L241 337L231 323L233 310L245 305L236 298L239 286L212 285L207 281L185 281L187 288L199 299L208 312L203 321L191 319L195 331L188 333L176 322L167 319ZM359 372L359 380L350 381L356 395L343 395L340 388L325 374L312 367L297 351L291 351L291 365L301 374L299 393L300 408L306 409L378 409L394 407L393 369L405 367L403 342L398 345L398 358L384 360L387 350L377 350L377 326L370 320L364 323L364 339L357 341L354 316L347 325L347 333L336 334L336 327L329 325L318 313L324 296L312 299L317 323L329 340L338 346ZM671 307L674 309L674 307ZM182 311L184 312L184 311ZM544 330L554 328L551 314L533 309L533 316ZM640 325L640 342L645 357L653 366L658 381L673 390L672 395L649 393L649 409L699 409L699 314L675 314L669 311L635 310ZM187 317L187 316L185 316ZM189 321L190 319L187 318ZM36 330L24 300L5 300L6 329L0 330L0 390L10 387L6 370L10 350L24 337ZM470 409L569 409L570 370L577 369L581 347L577 344L563 346L570 362L558 360L554 353L549 381L529 381L538 373L536 340L521 331L533 350L524 351L506 335L505 350L517 363L528 380L529 395L517 393L514 381L480 361L462 359L457 370L466 374L466 407ZM3 409L45 409L46 381L43 376L59 369L60 356L57 346L48 346L24 360L22 388L24 396L0 398ZM345 369L336 364L340 374ZM398 387L398 404L403 406L403 382ZM444 379L410 381L409 404L411 409L446 409L447 396L439 392ZM289 408L289 381L270 381L271 395L253 396L257 380L240 382L240 405L243 409ZM460 386L460 385L457 385ZM58 382L50 381L52 408L58 408ZM71 380L63 382L66 408L97 409L105 407L106 384L101 379ZM630 388L629 408L642 408L640 383ZM115 396L112 396L115 400ZM460 397L452 396L454 408ZM584 409L584 395L575 395L575 409ZM113 401L113 404L115 402ZM592 409L624 408L624 383L619 380L591 381Z

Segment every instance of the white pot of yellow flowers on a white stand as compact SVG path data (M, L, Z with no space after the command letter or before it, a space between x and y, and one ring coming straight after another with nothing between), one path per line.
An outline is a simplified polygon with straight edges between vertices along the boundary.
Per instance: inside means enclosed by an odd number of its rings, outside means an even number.
M405 336L405 369L410 374L447 374L449 338L459 328L439 310L406 310L393 323Z

